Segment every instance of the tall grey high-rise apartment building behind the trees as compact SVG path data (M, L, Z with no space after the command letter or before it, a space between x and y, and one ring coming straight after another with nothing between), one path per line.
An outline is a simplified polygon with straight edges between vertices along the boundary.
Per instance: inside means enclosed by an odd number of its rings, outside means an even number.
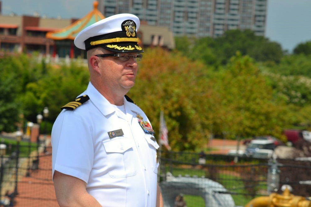
M268 0L99 0L105 17L131 13L148 25L166 26L175 36L218 37L250 29L264 36Z

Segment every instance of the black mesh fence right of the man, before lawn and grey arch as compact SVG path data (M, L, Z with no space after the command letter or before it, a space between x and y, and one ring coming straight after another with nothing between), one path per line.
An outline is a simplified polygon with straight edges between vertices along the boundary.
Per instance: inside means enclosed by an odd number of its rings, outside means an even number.
M174 207L180 194L188 207L244 206L258 196L282 194L283 185L290 185L294 195L311 196L310 161L239 157L236 163L234 156L186 152L162 152L161 157L166 206Z

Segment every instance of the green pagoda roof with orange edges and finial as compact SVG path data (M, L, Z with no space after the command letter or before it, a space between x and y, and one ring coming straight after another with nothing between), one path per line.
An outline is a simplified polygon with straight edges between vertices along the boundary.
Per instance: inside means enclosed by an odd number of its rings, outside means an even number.
M100 11L97 9L97 7L98 2L95 1L93 11L63 29L48 32L46 34L46 38L54 40L74 40L81 30L105 18L104 15L102 15L102 13L100 13Z

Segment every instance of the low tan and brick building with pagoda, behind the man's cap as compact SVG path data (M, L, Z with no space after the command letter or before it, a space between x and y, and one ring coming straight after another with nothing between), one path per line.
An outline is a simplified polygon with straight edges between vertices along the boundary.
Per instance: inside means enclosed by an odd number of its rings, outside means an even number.
M85 58L84 51L76 48L73 40L86 26L104 18L97 6L95 1L94 10L79 20L0 15L0 57L5 53L39 52L44 56ZM142 21L138 36L145 48L160 46L170 50L175 47L173 33L167 27L151 26Z

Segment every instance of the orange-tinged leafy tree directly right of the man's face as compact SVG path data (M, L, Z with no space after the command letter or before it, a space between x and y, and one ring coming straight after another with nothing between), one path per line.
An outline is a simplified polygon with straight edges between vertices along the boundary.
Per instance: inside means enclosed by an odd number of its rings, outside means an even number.
M196 105L204 105L202 94L209 90L206 67L160 48L146 49L139 67L128 95L145 111L157 135L163 109L173 150L196 150L207 144L208 129Z

